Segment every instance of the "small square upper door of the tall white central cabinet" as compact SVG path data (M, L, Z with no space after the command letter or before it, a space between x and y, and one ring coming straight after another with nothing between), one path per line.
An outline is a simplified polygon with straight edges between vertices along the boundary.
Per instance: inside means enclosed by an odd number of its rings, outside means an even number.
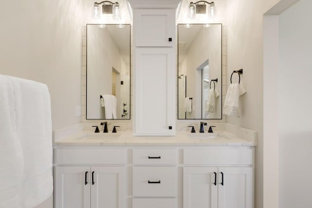
M134 46L173 47L176 39L174 9L135 9ZM171 40L169 39L171 38Z

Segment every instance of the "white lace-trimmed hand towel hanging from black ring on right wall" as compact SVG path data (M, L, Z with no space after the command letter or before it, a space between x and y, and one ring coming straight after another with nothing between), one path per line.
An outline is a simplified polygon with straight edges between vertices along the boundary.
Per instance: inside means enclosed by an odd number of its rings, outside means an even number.
M239 96L245 93L246 90L242 84L230 84L224 101L223 114L227 116L239 117Z

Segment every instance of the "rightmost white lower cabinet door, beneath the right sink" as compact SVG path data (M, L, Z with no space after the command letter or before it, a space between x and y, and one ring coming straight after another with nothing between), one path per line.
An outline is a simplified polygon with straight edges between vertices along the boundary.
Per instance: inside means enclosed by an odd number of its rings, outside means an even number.
M253 168L219 168L218 182L219 208L254 207Z

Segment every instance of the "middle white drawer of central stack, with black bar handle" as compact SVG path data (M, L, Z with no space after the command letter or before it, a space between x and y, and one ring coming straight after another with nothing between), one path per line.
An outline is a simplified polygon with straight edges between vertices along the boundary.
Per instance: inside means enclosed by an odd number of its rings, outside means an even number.
M176 167L133 167L133 196L176 197Z

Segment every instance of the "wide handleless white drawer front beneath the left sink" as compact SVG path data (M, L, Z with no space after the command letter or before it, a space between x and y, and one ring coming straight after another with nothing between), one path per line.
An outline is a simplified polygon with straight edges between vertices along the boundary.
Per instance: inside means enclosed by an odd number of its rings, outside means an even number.
M60 148L54 150L54 163L57 165L123 165L126 164L125 149Z

